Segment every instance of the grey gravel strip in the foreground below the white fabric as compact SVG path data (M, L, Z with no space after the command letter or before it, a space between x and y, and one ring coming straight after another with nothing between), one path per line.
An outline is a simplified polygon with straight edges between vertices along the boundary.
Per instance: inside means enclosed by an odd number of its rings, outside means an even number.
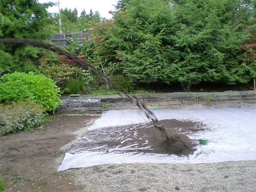
M256 161L116 164L70 169L84 191L255 192Z

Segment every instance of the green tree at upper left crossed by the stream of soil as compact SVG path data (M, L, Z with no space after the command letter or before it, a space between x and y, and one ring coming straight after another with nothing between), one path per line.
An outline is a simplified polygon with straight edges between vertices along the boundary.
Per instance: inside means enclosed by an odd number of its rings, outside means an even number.
M3 0L0 3L0 35L2 38L46 40L51 35L52 19L47 8L37 0ZM0 71L33 71L39 49L0 44Z

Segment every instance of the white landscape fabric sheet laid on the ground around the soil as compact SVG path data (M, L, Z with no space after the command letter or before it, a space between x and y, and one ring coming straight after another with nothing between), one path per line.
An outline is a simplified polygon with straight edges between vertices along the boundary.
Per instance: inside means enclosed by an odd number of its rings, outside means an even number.
M120 163L214 163L223 161L256 160L256 108L201 108L154 111L159 120L178 119L204 123L204 132L188 135L191 139L207 138L208 145L197 146L188 157L150 153L105 153L84 151L66 153L58 171L100 164ZM139 110L107 111L88 131L104 127L145 123L148 120ZM85 133L86 134L86 133ZM129 138L124 138L129 139Z

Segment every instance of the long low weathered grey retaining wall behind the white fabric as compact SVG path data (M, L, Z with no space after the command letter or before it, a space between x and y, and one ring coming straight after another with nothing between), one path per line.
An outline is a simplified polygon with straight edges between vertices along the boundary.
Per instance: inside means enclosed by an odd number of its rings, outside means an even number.
M148 109L180 109L196 107L236 107L256 105L256 91L225 91L210 93L136 94ZM63 96L58 113L96 114L102 110L138 109L125 95Z

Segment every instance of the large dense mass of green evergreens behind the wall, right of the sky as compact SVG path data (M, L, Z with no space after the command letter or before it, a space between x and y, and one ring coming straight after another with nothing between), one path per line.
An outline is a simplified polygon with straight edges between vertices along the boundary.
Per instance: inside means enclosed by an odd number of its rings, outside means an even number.
M256 76L255 61L241 49L254 35L254 6L239 0L122 0L114 20L95 27L84 50L92 62L114 62L134 81L178 82L185 89L200 82L246 83Z

